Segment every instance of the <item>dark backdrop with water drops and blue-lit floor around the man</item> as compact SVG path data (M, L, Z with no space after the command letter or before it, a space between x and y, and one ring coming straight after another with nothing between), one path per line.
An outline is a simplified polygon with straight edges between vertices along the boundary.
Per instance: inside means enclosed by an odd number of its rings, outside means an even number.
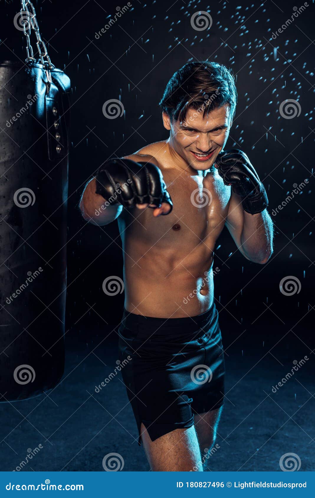
M111 452L123 456L126 471L148 470L135 443L136 424L120 376L106 392L92 396L118 358L124 295L104 294L102 283L109 275L122 278L122 250L117 222L106 227L87 224L78 202L103 161L167 138L158 108L165 85L184 63L205 59L233 70L238 105L226 148L247 153L268 192L270 214L294 184L309 179L272 216L275 247L267 264L243 258L226 230L217 243L215 298L227 387L220 449L211 457L211 468L280 470L280 457L294 452L301 458L301 471L313 470L314 5L309 2L274 40L272 33L300 2L131 3L96 39L108 16L117 12L116 4L34 1L51 60L72 84L66 373L49 399L19 402L18 413L13 404L1 405L6 461L1 470L15 468L27 448L39 442L44 449L24 470L102 471L102 459ZM24 61L23 35L12 21L19 2L2 0L0 8L1 59ZM211 28L192 28L190 17L198 10L210 13ZM32 43L35 49L34 39ZM122 102L125 113L109 120L102 107L112 99ZM286 99L299 102L299 116L280 115ZM279 283L287 276L299 279L299 293L280 292ZM272 386L291 372L293 361L305 355L307 364L273 393Z

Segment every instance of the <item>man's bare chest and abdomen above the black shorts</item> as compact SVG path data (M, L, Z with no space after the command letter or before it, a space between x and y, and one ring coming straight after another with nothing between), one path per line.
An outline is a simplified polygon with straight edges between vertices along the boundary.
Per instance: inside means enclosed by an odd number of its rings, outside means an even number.
M174 205L171 213L154 219L150 208L135 208L118 218L125 308L156 318L200 315L213 303L213 250L230 194L216 170L208 178L163 168L162 173ZM191 192L201 187L211 192L212 202L198 208Z

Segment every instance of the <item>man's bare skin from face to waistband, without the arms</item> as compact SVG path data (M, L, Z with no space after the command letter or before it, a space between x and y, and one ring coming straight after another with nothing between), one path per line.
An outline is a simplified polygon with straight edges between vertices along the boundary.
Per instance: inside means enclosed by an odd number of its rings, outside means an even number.
M214 164L231 120L229 106L205 117L195 114L188 110L185 123L171 123L163 114L170 138L127 156L155 163L173 202L167 216L160 216L169 211L165 203L154 210L148 205L123 209L118 217L125 307L130 312L161 318L194 316L213 302L213 249L231 198L231 188L223 184Z

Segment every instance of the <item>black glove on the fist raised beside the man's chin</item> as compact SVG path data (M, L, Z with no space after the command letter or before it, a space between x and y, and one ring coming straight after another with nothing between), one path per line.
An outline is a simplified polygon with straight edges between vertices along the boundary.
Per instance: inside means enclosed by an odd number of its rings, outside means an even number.
M261 213L268 206L264 185L245 152L238 149L222 150L216 164L225 185L231 185L233 192L242 199L242 206L251 215Z

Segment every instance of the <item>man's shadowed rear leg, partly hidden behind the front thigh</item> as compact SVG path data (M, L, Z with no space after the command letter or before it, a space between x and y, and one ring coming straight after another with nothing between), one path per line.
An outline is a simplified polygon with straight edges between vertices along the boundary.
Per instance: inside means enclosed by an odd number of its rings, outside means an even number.
M219 424L223 406L216 410L200 413L194 416L194 425L200 445L201 461L203 470L207 470L210 465L210 453L216 439L217 427Z

